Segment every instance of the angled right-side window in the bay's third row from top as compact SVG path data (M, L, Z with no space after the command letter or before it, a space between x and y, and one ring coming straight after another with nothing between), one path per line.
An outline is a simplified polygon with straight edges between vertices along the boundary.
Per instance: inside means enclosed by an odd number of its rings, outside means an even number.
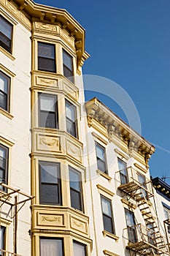
M77 210L83 211L81 173L74 170L72 167L69 167L69 185L71 206Z

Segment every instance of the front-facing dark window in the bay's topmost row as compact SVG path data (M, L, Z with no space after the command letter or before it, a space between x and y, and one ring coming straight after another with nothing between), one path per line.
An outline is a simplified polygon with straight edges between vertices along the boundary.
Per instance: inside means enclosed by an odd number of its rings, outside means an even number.
M47 72L56 72L55 45L38 42L38 69Z

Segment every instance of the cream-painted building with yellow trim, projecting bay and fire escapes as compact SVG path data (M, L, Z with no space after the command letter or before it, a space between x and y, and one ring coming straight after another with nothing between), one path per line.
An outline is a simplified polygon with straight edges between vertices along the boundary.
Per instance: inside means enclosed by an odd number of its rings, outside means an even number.
M88 57L66 10L0 0L0 255L170 255L155 148L98 99L85 103Z

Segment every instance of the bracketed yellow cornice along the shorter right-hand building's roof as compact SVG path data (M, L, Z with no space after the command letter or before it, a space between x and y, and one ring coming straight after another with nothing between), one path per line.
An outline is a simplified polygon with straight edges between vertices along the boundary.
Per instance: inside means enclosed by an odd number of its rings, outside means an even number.
M107 129L109 142L114 142L115 137L118 138L127 146L130 157L134 157L135 152L142 155L147 169L149 168L148 161L155 152L155 147L152 144L142 138L98 99L93 98L86 102L85 108L87 110L88 127L92 127L93 120L96 120L98 124Z

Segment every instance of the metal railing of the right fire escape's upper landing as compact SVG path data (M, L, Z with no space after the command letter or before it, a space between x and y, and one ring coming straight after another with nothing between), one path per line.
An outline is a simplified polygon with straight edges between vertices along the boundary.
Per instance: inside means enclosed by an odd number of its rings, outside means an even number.
M153 195L152 182L149 178L144 177L144 182L140 183L139 176L140 173L133 167L119 170L115 173L116 187L119 189L126 188L128 192L131 192L133 189L142 189L142 194L150 197Z

